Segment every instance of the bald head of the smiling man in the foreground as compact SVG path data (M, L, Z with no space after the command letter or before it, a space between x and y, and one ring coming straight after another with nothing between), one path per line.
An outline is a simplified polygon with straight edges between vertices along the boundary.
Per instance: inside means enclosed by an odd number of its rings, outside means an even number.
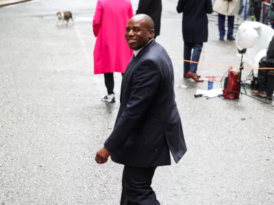
M137 14L129 19L125 38L129 48L137 51L154 37L153 20L146 14Z

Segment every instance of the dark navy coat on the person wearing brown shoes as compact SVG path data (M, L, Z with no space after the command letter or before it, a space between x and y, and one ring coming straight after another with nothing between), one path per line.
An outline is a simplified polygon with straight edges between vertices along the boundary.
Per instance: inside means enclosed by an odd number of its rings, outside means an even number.
M177 12L183 12L184 42L208 42L208 16L213 12L212 0L179 0Z

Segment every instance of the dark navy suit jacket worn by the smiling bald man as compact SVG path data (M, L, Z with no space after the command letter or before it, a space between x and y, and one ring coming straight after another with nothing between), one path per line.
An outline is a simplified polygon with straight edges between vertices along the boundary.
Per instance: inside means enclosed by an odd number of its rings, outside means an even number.
M112 161L134 167L171 165L186 152L174 93L173 65L151 40L131 61L121 85L121 106L104 146Z

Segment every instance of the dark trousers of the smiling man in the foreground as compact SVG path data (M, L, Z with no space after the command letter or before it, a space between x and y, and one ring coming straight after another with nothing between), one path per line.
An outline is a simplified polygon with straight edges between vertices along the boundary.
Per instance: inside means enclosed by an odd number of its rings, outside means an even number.
M124 166L120 205L160 205L151 188L155 169Z

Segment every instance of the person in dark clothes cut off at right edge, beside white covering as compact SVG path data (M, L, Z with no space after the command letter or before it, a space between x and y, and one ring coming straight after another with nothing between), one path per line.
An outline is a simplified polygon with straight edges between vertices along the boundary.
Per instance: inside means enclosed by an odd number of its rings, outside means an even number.
M274 36L269 43L266 56L259 62L259 68L274 68ZM266 90L268 83L269 70L260 69L258 72L258 90L252 90L253 96L261 96L266 98Z

